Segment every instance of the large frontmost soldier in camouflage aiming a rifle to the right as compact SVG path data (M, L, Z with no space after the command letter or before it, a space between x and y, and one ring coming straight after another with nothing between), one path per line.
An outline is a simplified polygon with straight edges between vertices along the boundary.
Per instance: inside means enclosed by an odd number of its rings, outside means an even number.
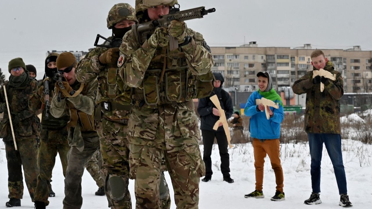
M174 4L177 0L136 0L136 15L140 23L155 20ZM203 36L184 22L173 20L169 28L156 28L144 43L137 40L136 31L134 26L125 34L118 60L119 75L133 87L127 138L136 208L159 208L162 156L177 208L198 208L205 165L192 99L211 93L214 60ZM171 52L169 35L179 43Z

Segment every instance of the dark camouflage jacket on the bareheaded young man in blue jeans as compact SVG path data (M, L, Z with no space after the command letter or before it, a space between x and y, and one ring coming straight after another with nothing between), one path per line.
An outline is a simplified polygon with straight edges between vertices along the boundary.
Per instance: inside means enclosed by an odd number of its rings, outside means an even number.
M316 70L314 68L314 70ZM324 70L336 74L320 92L320 84L312 83L313 71L307 72L292 86L295 94L306 93L305 131L314 134L340 134L340 99L344 94L343 78L328 61Z

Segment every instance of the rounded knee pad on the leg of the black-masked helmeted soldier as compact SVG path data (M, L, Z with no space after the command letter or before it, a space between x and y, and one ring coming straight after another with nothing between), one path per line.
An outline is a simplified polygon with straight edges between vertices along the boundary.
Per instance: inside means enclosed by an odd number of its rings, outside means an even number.
M106 187L110 194L110 198L115 201L124 199L128 190L128 183L128 179L124 179L120 176L108 176Z

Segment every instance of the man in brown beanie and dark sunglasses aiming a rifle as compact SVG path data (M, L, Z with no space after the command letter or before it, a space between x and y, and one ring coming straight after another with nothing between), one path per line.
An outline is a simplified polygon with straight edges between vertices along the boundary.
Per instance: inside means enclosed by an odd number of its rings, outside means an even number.
M76 65L76 58L71 52L62 52L58 56L57 69L63 71L65 81L60 83L63 88L56 82L54 88L56 96L53 97L50 108L55 118L70 115L67 140L71 148L67 154L64 209L81 208L83 203L81 177L84 166L99 149L99 137L93 119L97 80L79 83L75 76ZM58 98L57 95L61 97Z

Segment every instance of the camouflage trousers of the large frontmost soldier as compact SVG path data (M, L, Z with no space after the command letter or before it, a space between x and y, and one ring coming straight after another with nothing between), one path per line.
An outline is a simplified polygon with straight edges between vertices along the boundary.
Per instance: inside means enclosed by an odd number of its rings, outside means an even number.
M130 177L137 209L158 209L161 161L171 177L177 208L198 209L199 180L205 174L199 126L191 102L133 106L128 123Z

